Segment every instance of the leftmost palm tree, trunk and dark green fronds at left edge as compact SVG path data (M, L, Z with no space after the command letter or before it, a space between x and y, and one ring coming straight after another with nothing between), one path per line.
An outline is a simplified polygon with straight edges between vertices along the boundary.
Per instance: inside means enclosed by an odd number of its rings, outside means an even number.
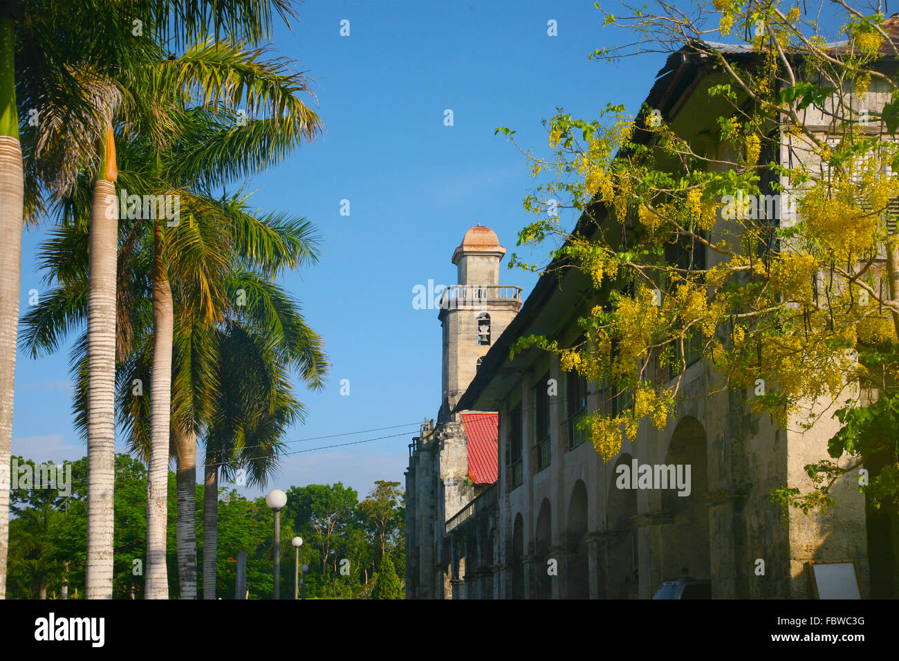
M12 443L22 223L42 210L42 192L56 190L54 179L65 168L55 166L78 160L78 146L100 135L90 94L76 71L85 62L120 67L142 49L129 31L119 29L117 4L85 0L72 12L66 0L0 2L0 476L8 474ZM29 120L22 126L20 107ZM37 139L52 126L67 127L63 132L73 139ZM6 585L8 489L8 480L0 479L0 599Z

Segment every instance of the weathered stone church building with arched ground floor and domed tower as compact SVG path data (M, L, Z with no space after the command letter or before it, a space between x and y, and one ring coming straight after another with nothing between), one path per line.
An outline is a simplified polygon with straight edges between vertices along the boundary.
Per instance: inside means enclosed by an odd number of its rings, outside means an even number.
M717 82L703 58L681 51L646 103L698 144L714 123ZM708 153L725 148L709 142ZM847 560L862 597L896 596L895 513L887 520L867 505L852 476L823 513L770 502L776 487L811 487L803 468L827 457L835 420L801 432L752 415L746 392L711 387L697 354L670 424L642 424L604 463L576 424L622 410L628 393L561 371L538 349L510 360L527 335L575 344L592 283L576 269L547 272L522 303L520 288L499 283L504 253L476 226L452 255L458 285L439 313L441 408L410 445L406 471L407 598L647 599L682 576L708 582L713 598L812 598L809 561ZM689 467L687 484L620 487L622 472L645 464Z

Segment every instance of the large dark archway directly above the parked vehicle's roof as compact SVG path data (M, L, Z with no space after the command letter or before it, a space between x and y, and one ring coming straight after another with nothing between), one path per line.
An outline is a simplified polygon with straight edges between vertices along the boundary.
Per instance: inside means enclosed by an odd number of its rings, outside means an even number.
M708 464L706 430L699 420L686 417L678 423L668 443L665 465L690 489L669 485L662 492L662 509L672 523L662 526L662 579L679 576L711 578L708 536ZM689 472L688 472L689 467ZM687 479L689 475L689 479Z

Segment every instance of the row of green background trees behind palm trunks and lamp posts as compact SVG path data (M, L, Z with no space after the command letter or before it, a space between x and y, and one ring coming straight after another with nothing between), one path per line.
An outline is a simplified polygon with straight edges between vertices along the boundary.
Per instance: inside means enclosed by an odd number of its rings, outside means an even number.
M7 591L10 599L40 598L41 594L58 598L64 582L68 585L69 599L84 596L87 462L81 459L73 461L71 466L70 496L58 496L51 489L13 491L16 510L10 522ZM378 480L362 504L358 503L354 489L340 483L291 487L288 506L281 514L281 597L293 596L295 550L290 540L297 535L303 538L299 564L309 567L305 575L307 598L349 599L370 590L382 540L385 552L396 559L396 573L405 574L405 509L398 486L397 482ZM174 473L169 473L167 561L173 568L177 567L174 496ZM196 502L201 511L202 485L196 487ZM113 555L116 599L143 597L144 576L140 570L146 561L146 512L147 469L129 455L117 454ZM321 527L334 514L337 516L327 540L328 553L323 558L324 539L313 522ZM250 598L271 599L272 530L273 514L263 497L250 500L233 489L219 495L216 567L219 596L235 597L236 561L243 549ZM202 517L198 517L200 558L202 539ZM346 562L342 562L344 559ZM169 572L169 594L179 594L177 571Z

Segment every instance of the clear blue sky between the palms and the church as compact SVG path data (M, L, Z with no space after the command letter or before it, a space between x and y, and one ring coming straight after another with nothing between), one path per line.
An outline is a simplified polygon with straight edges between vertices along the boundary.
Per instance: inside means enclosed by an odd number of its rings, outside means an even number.
M343 20L348 37L340 35ZM547 35L550 20L557 36ZM301 60L316 80L326 132L247 190L263 210L289 210L319 228L322 261L284 282L324 336L332 363L323 392L300 390L307 423L285 440L300 451L402 435L294 454L270 487L342 481L363 495L375 479L404 482L407 446L417 424L436 417L441 396L437 310L413 308L414 286L456 282L450 257L477 222L494 229L507 257L516 251L517 232L531 219L521 201L537 181L494 129L517 130L520 144L540 153L547 143L540 121L556 106L585 119L607 103L636 111L662 56L588 61L593 49L627 38L603 28L601 13L583 0L308 0L293 31L277 31L271 46ZM452 126L444 125L448 109ZM340 214L342 200L350 201L349 216ZM570 227L574 217L562 222ZM23 240L22 312L29 290L43 291L34 271L41 238L37 229ZM533 261L544 256L518 252ZM527 294L536 276L503 268L500 279ZM303 441L382 427L393 428ZM13 453L41 461L85 455L72 425L67 347L37 361L20 353Z

